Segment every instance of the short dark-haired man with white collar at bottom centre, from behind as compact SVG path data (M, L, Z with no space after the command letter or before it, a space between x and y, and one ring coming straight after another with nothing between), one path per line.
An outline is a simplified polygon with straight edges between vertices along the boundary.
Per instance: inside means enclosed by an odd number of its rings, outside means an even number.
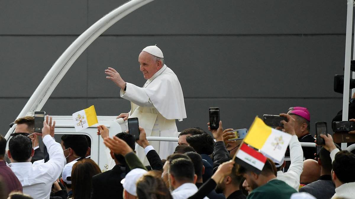
M186 199L197 192L197 176L191 160L178 158L169 162L170 185L173 199ZM208 199L204 197L204 199Z

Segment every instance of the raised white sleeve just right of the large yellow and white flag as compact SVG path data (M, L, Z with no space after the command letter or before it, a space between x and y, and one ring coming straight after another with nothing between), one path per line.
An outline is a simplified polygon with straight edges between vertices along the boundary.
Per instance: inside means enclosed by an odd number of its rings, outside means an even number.
M303 150L301 143L296 135L291 137L290 141L290 159L291 164L285 175L290 176L300 183L300 176L303 171Z

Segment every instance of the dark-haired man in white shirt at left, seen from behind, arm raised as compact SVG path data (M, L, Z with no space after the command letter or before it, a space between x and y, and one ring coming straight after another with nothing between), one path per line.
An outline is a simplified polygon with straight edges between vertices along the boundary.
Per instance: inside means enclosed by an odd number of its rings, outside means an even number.
M48 116L47 116L48 121ZM36 133L40 135L40 133ZM49 161L32 165L31 158L34 154L31 139L27 136L18 135L9 141L9 164L23 187L23 193L31 195L35 199L48 199L53 182L60 176L65 157L62 147L55 142L54 131L44 121L42 139L47 147Z

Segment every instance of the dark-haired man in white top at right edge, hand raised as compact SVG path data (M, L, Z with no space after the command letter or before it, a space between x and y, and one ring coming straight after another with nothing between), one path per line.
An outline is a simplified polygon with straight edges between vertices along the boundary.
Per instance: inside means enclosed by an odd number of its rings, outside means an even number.
M335 184L335 194L332 199L355 197L355 155L346 151L340 151L334 144L331 135L321 135L326 142L324 148L331 152L332 180Z

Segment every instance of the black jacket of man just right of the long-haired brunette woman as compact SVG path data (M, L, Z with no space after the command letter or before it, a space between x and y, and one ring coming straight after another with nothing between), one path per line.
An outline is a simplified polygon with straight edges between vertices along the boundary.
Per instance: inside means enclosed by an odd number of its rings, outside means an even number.
M111 170L92 177L91 199L100 198L122 198L123 186L121 180L125 172L120 165L114 166Z

